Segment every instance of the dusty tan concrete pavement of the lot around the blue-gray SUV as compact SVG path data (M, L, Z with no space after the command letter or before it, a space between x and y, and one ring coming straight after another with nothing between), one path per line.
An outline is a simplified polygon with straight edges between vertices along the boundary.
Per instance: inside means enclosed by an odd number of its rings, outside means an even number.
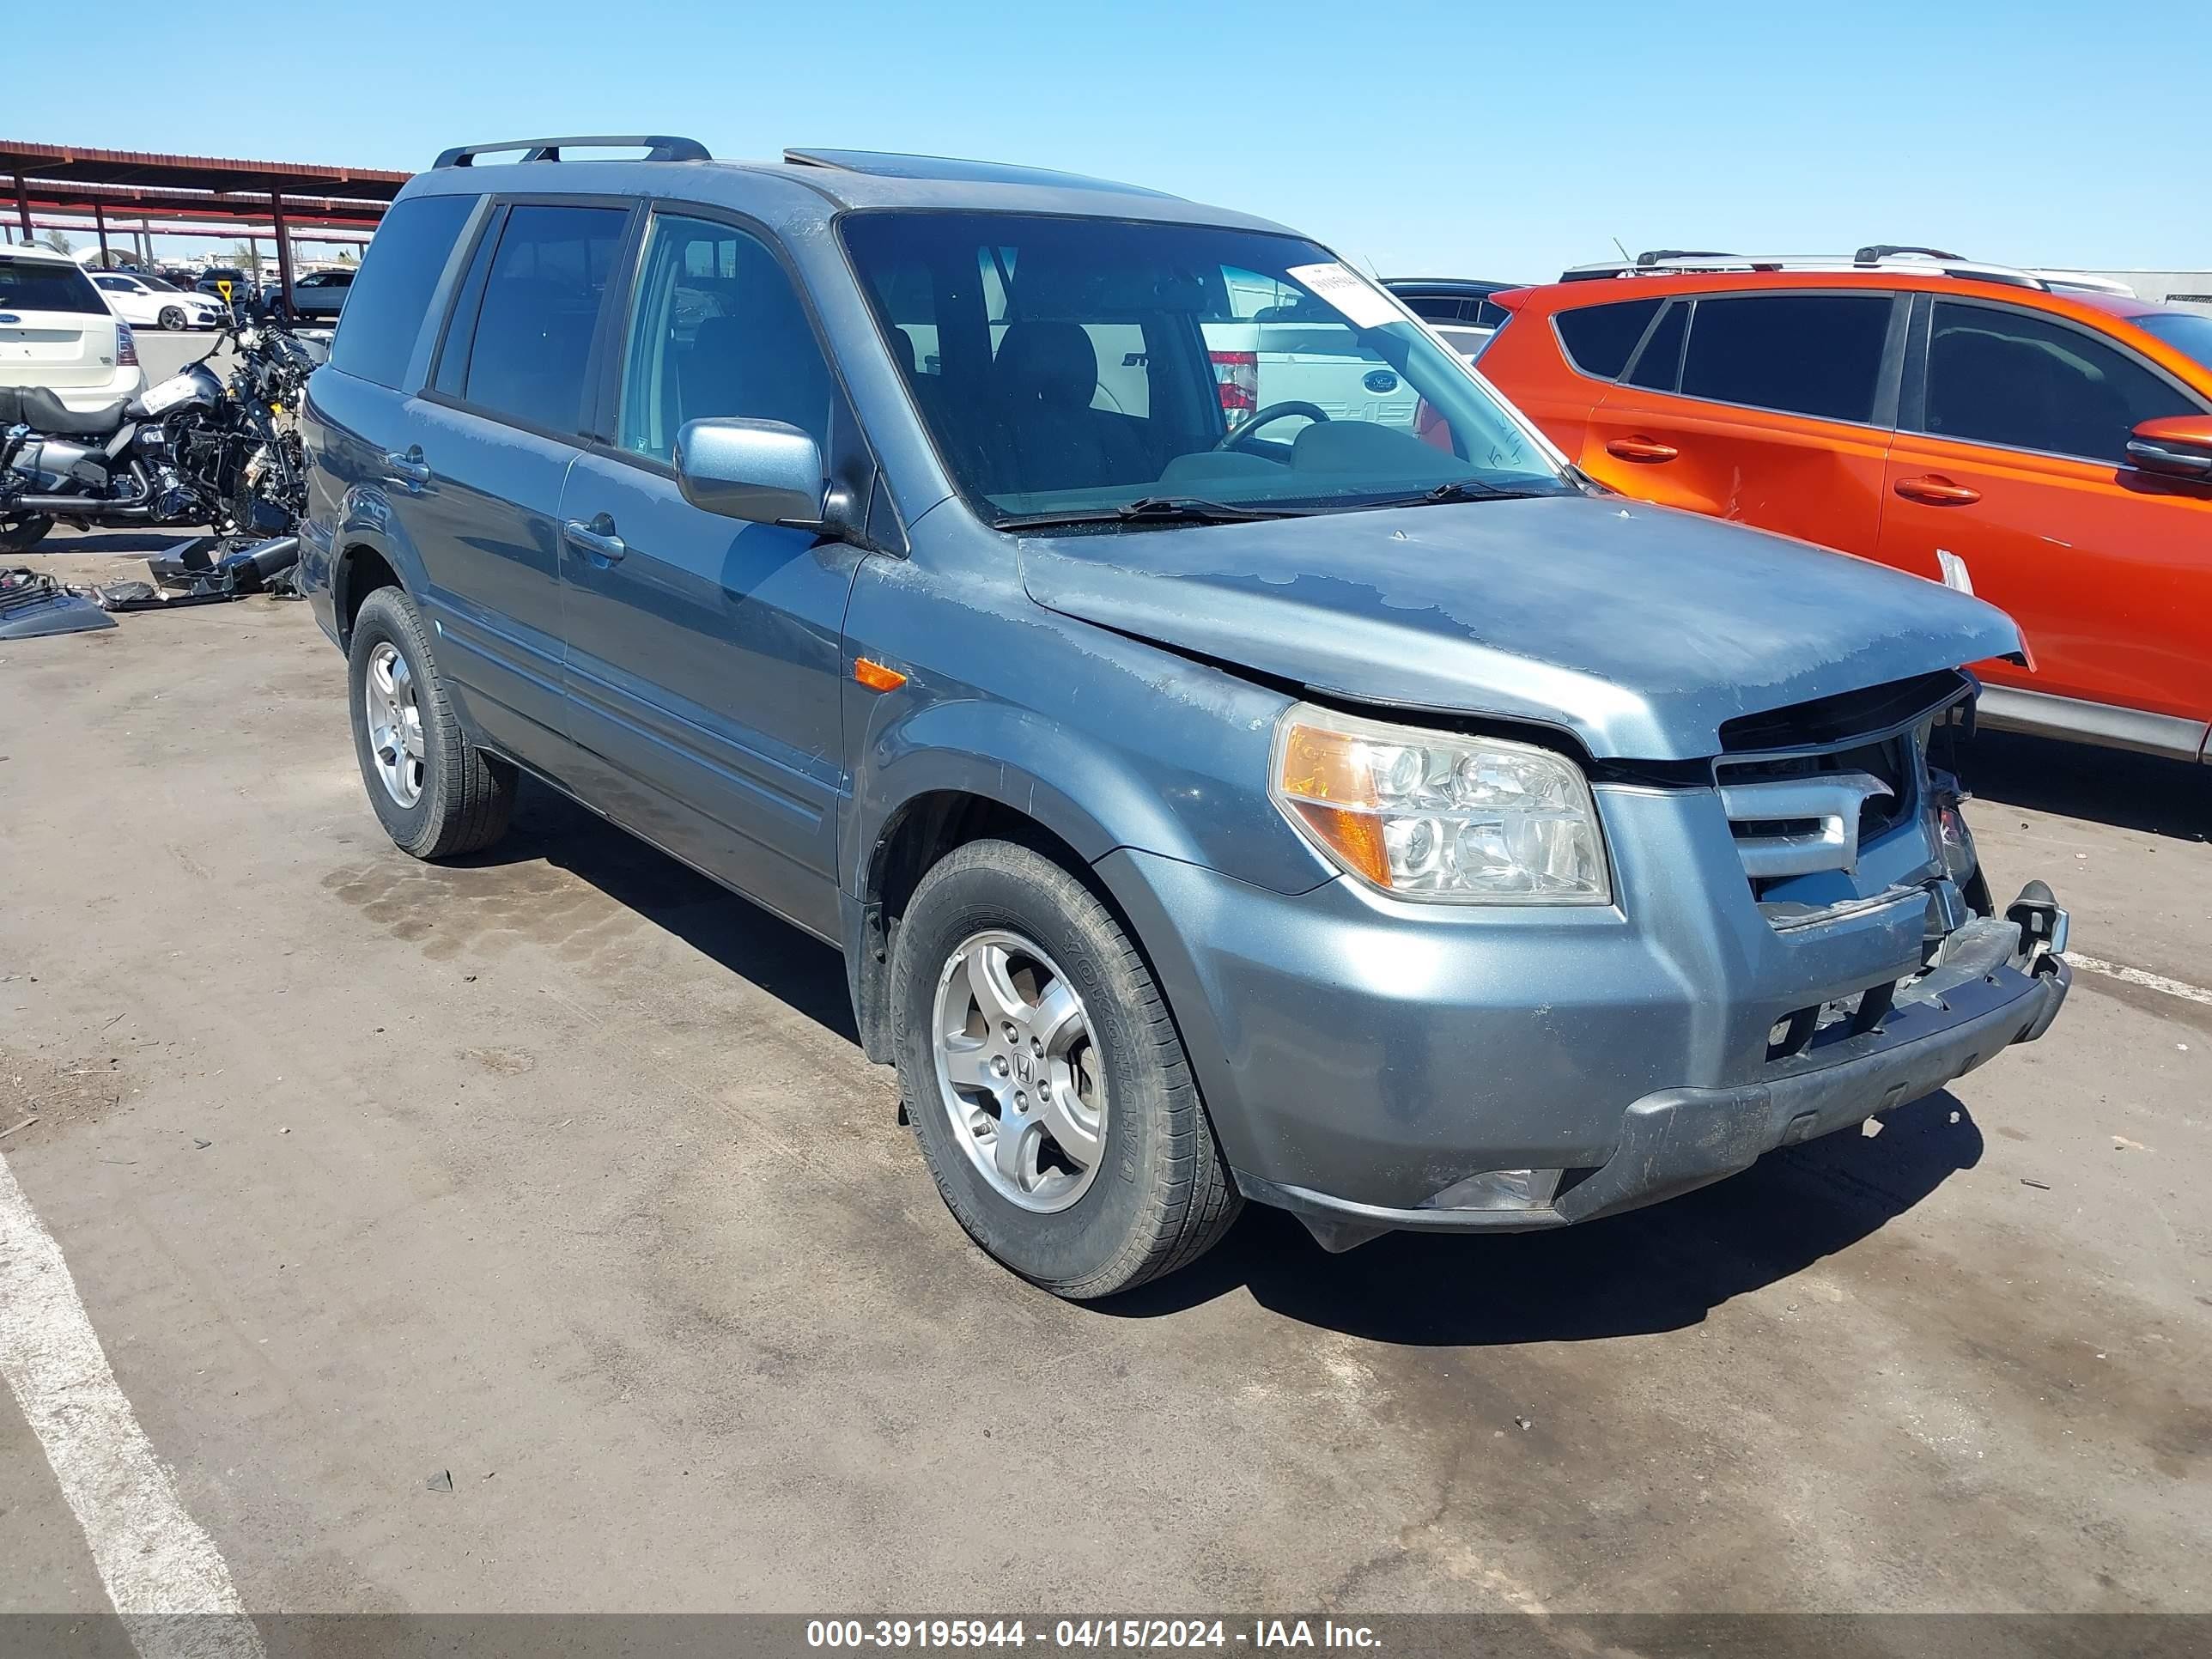
M84 573L113 538L60 538ZM2212 790L1969 757L2055 1033L1564 1234L980 1256L836 958L544 790L400 856L250 599L0 648L0 1157L254 1610L2208 1610ZM434 1489L449 1475L451 1491ZM100 1610L0 1396L0 1610Z

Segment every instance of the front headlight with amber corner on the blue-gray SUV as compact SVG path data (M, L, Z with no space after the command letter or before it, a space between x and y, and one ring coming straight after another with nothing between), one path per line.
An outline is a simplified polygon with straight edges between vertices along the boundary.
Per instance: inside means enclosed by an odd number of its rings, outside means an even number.
M1298 703L1276 723L1267 794L1323 854L1396 898L1613 900L1582 768L1531 743Z

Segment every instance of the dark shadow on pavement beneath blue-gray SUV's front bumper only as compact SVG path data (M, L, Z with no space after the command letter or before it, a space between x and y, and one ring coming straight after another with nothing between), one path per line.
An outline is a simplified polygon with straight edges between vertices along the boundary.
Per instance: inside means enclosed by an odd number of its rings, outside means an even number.
M1648 1210L1557 1232L1394 1232L1329 1256L1252 1206L1210 1254L1097 1303L1155 1318L1232 1290L1285 1318L1374 1343L1493 1347L1646 1336L1790 1279L1905 1214L1982 1159L1951 1093L1900 1106L1876 1137L1843 1130Z

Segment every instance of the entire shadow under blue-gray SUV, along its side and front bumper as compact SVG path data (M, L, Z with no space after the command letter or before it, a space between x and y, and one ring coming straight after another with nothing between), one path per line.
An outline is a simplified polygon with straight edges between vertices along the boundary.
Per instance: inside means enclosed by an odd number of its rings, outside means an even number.
M858 1044L845 964L832 947L535 779L522 781L500 845L456 863L540 858ZM1847 1250L1980 1159L1982 1130L1958 1097L1936 1093L1900 1106L1871 1139L1829 1135L1681 1199L1557 1232L1398 1232L1332 1256L1294 1217L1248 1206L1212 1254L1091 1307L1157 1318L1241 1287L1287 1318L1378 1343L1482 1347L1666 1332Z

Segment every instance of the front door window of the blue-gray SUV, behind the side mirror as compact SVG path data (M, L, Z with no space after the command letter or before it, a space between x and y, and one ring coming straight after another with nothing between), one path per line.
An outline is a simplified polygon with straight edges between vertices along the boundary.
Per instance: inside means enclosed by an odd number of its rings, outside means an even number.
M617 442L670 460L686 420L781 420L830 447L830 365L792 279L743 230L653 221L624 349Z

